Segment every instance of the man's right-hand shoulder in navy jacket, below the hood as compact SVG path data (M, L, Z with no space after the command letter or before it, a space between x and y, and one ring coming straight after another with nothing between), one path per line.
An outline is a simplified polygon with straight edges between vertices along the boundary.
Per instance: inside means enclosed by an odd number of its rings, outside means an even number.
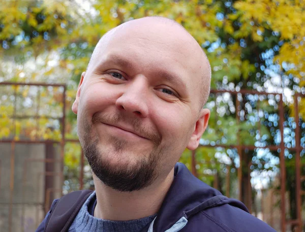
M262 220L237 207L223 205L198 212L190 218L184 231L276 232Z

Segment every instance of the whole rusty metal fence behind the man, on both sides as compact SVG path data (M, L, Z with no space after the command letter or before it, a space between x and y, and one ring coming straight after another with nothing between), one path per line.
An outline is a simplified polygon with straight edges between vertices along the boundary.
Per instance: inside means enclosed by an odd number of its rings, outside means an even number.
M0 140L0 228L1 231L33 231L40 221L43 219L45 213L49 210L52 200L56 197L59 197L63 194L63 183L64 183L64 154L65 154L65 145L69 143L79 143L76 139L67 139L65 138L65 127L66 127L66 85L59 84L34 84L34 83L9 83L1 82L1 86L15 86L14 93L12 94L13 102L13 112L12 115L9 115L13 119L14 123L17 119L27 119L33 118L39 120L41 117L51 118L53 120L58 120L60 124L60 139L39 139L38 136L32 139L27 138L15 138L15 135L12 135L11 138L6 138ZM36 114L35 115L18 115L17 114L17 86L37 86L38 93L37 96L37 105L36 105ZM61 102L62 113L58 117L52 115L40 115L39 109L41 92L40 87L57 87L62 88L61 97L59 102ZM1 89L0 89L1 91ZM240 123L240 104L242 101L240 99L245 95L265 95L278 97L278 106L276 107L277 114L279 115L279 131L281 135L281 141L277 145L267 145L267 146L255 146L242 144L242 140L239 137L239 132L237 132L237 144L204 144L206 148L224 148L224 149L235 149L238 153L240 165L237 170L237 186L238 186L238 198L243 201L247 207L252 211L252 196L250 193L252 186L251 183L245 183L243 177L248 175L250 180L251 174L251 163L252 160L246 157L245 151L255 151L256 149L268 149L269 151L279 154L280 164L280 189L272 189L271 194L271 204L270 208L276 207L276 202L273 199L276 197L276 193L280 197L280 212L281 212L281 225L278 225L282 232L287 231L288 225L294 225L294 231L300 232L303 228L303 221L301 217L301 196L304 195L305 191L301 189L301 182L305 180L305 176L301 175L301 151L302 147L300 144L301 140L301 127L300 127L300 117L299 117L299 100L302 95L300 93L295 93L294 106L293 106L293 115L294 123L296 124L295 132L295 146L286 147L284 143L284 121L285 121L285 106L283 103L283 94L280 93L267 93L267 92L258 92L254 90L243 90L239 91L227 91L227 90L211 90L211 95L214 97L220 96L222 94L230 94L232 100L235 100L235 118L236 123ZM1 106L1 104L0 104ZM258 106L259 107L259 106ZM257 112L259 109L256 109ZM22 112L21 112L22 113ZM0 115L2 112L0 112ZM39 124L37 123L37 127ZM258 130L260 126L258 125ZM16 131L16 124L14 124L14 130ZM15 132L14 132L15 133ZM26 147L25 147L26 146ZM28 149L30 146L33 149ZM36 149L36 150L35 150ZM296 217L294 219L288 219L287 214L287 200L286 200L286 159L285 150L289 150L295 153L295 199L296 199ZM196 159L196 152L192 152L191 156L191 171L195 176L200 176L198 173L197 165L200 163ZM251 152L250 152L251 153ZM251 156L251 155L250 155ZM22 158L21 158L22 157ZM247 163L243 163L245 161ZM21 163L20 163L21 162ZM80 168L79 168L79 189L84 187L84 167L85 160L84 154L81 152L80 156ZM227 196L230 196L230 185L232 183L230 165L226 165L226 176L225 176L225 192ZM246 173L246 174L245 174ZM18 176L19 175L19 176ZM209 175L209 174L208 174ZM214 175L214 187L219 188L217 181L217 175ZM247 177L246 177L247 179ZM261 197L261 211L266 210L263 203L263 197ZM268 223L271 226L276 226L273 220L272 212L269 210L270 215L268 215ZM31 215L28 217L27 215ZM266 218L267 215L263 215L263 218ZM7 227L5 227L7 224ZM3 230L5 228L5 230Z

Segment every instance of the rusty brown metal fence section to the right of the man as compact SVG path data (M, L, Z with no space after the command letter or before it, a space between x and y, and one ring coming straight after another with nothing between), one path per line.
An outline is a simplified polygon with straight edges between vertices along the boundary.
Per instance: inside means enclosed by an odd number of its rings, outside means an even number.
M238 101L238 97L237 95L245 95L245 94L257 94L257 95L273 95L273 96L279 96L280 101L279 101L279 116L280 116L280 120L279 120L279 128L280 128L280 133L281 133L281 142L279 146L276 145L268 145L268 146L264 146L264 147L259 147L259 146L253 146L253 145L243 145L240 144L239 140L237 140L237 145L232 146L232 145L218 145L220 147L224 147L224 148L228 148L228 147L234 147L238 150L238 154L240 157L240 160L242 160L242 150L248 149L248 150L255 150L256 148L263 148L263 149L269 149L270 151L276 151L279 152L279 157L280 157L280 189L277 190L273 190L273 192L280 192L281 195L281 201L280 201L280 209L281 209L281 231L286 231L287 230L287 225L294 225L294 231L301 231L303 228L303 221L302 221L302 217L301 217L301 196L305 194L305 191L301 190L301 182L303 180L305 180L305 176L301 176L301 168L303 167L303 164L301 163L301 150L303 149L300 145L300 123L299 123L299 109L298 109L298 102L300 100L300 97L303 96L303 94L301 93L295 93L294 94L294 122L296 123L296 127L295 127L295 147L290 147L287 148L285 147L284 144L284 103L283 103L283 94L282 93L268 93L268 92L262 92L262 91L255 91L255 90L244 90L244 89L240 89L239 91L227 91L227 90L211 90L211 93L224 93L224 92L228 92L232 95L235 95L235 99L236 99L236 105L235 108L236 110L236 120L237 122L239 121L240 118L240 111L239 111L239 104L240 102ZM286 166L285 166L285 155L284 155L284 151L285 149L288 149L290 151L295 152L295 199L296 199L296 218L295 219L287 219L286 218L286 213L287 213L287 206L286 206ZM242 191L241 189L243 188L243 183L242 182L242 172L243 172L243 168L248 168L248 170L250 170L250 165L251 165L251 161L249 163L247 163L245 166L240 165L239 169L238 169L238 189L239 189L239 200L243 200L243 203L246 204L246 206L249 208L250 212L251 212L251 195L247 194L247 195L242 195ZM249 172L248 172L249 173ZM251 187L251 186L248 186ZM272 195L271 195L272 196ZM248 199L247 199L248 198ZM271 198L272 199L272 198ZM271 207L273 207L271 205ZM272 214L272 210L270 212ZM271 216L271 221L270 221L271 226L275 226L272 222L272 216Z

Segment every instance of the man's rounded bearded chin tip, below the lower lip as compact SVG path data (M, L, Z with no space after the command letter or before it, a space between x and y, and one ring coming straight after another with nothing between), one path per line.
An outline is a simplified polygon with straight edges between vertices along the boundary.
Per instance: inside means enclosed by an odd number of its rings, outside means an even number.
M117 191L141 190L158 177L159 158L154 155L132 157L131 152L113 148L87 149L85 155L95 176Z

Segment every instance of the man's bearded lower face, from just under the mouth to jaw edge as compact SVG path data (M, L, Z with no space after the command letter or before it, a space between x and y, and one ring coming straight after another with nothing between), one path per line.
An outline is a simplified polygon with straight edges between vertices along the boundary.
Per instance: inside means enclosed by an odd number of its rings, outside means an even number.
M136 191L159 176L161 146L148 148L117 137L84 137L83 151L96 177L117 191Z

